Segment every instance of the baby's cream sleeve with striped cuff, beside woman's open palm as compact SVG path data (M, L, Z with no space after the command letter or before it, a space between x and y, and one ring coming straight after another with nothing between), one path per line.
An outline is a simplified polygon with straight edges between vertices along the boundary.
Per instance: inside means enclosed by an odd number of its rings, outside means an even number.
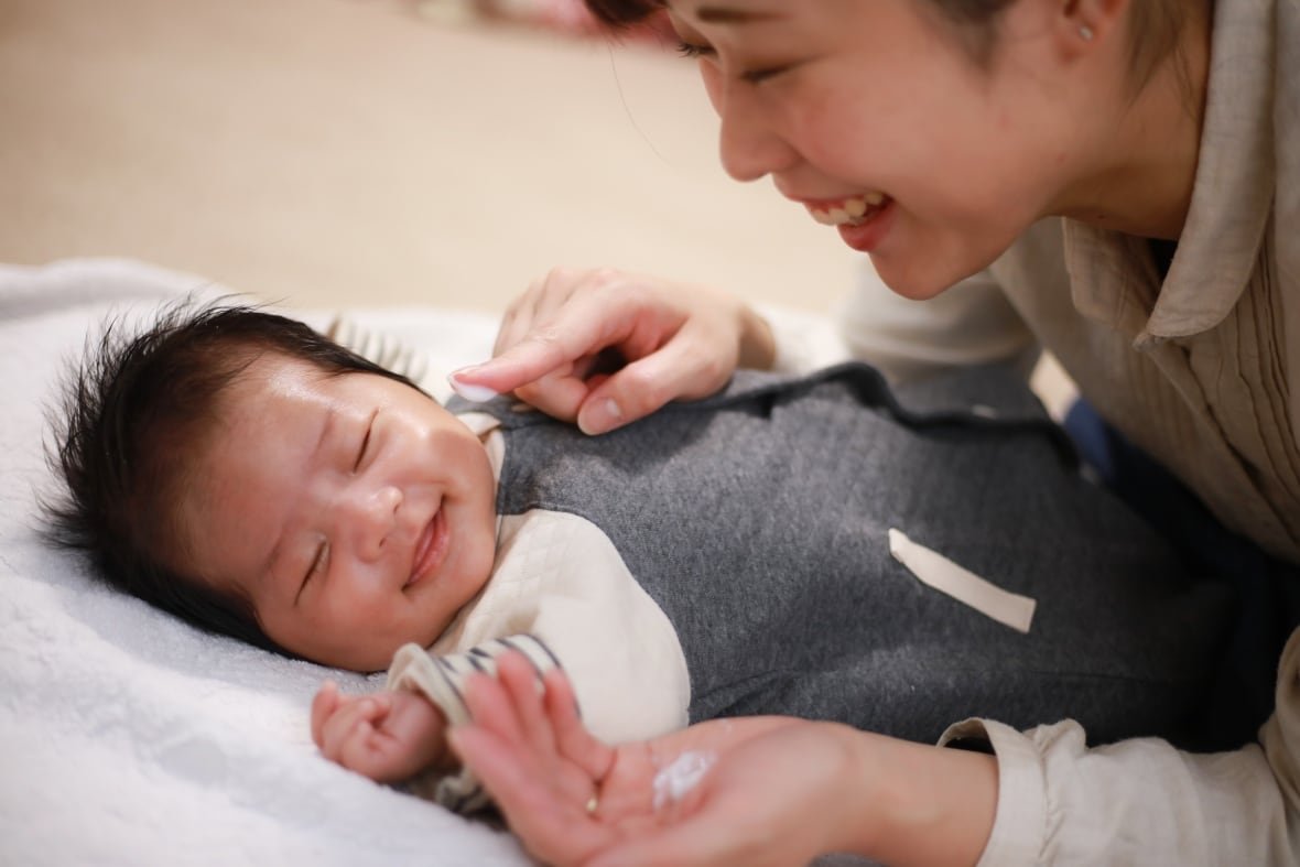
M468 718L465 679L494 672L510 649L538 675L562 668L584 724L607 744L688 723L690 676L676 630L610 538L584 517L546 510L504 516L491 581L432 649L398 650L387 688L421 693L455 725ZM426 773L407 788L458 812L488 805L467 771Z

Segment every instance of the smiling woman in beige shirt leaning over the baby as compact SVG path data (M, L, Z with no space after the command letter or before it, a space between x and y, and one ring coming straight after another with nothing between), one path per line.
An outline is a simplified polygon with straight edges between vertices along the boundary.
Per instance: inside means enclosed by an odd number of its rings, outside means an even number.
M588 1L612 23L663 5ZM554 702L546 716L526 690L478 684L484 725L456 740L514 827L563 862L1300 861L1300 638L1286 641L1300 611L1300 4L666 5L722 117L727 172L771 175L889 289L933 299L864 285L850 342L906 363L896 374L1030 338L1050 350L1087 400L1071 426L1104 477L1193 568L1238 586L1222 677L1247 697L1206 708L1216 744L1235 747L1217 755L1089 750L1070 721L991 720L945 736L985 753L757 719L608 750ZM597 372L610 348L627 364ZM728 296L552 272L512 307L498 356L455 381L601 433L780 350ZM684 801L655 812L633 797L637 755L701 744L718 760Z

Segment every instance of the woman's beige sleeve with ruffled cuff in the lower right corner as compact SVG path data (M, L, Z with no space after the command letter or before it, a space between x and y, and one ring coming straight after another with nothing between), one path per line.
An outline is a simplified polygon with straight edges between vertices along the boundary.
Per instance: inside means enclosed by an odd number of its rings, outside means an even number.
M991 864L1300 863L1300 630L1282 654L1261 744L1192 754L1136 738L1088 749L1071 720L1017 732L966 720L998 763Z

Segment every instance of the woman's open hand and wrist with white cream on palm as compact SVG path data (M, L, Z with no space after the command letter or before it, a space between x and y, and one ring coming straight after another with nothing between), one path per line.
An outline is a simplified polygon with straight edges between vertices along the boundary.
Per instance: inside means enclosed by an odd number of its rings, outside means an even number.
M471 679L452 749L551 864L802 867L827 851L971 864L992 828L992 757L832 723L718 719L607 746L552 671L510 654Z

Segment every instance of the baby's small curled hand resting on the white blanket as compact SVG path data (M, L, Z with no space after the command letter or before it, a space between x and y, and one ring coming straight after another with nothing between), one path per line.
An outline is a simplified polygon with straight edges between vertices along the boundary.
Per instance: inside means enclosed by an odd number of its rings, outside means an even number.
M415 693L342 695L325 681L312 701L312 740L325 758L377 783L452 760L445 732L442 711Z

